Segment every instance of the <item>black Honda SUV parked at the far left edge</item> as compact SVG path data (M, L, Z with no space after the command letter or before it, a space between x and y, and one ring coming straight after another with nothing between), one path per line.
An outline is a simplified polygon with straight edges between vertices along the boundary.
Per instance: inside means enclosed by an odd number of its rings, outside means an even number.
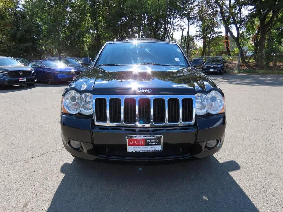
M34 86L35 71L24 66L12 57L0 56L0 86L20 85Z

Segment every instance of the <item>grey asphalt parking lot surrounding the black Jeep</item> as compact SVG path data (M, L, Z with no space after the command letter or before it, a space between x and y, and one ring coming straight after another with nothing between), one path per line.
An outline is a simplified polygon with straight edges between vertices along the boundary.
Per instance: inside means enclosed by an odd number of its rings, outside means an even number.
M169 164L74 159L60 134L67 84L0 90L1 211L282 211L283 76L210 76L228 125L215 155Z

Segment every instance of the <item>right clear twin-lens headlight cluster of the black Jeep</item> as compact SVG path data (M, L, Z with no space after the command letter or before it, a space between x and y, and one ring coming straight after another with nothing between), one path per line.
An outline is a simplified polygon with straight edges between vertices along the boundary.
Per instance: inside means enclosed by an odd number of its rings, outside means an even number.
M207 95L195 94L195 113L204 115L206 113L218 114L225 111L224 98L218 91L211 91Z

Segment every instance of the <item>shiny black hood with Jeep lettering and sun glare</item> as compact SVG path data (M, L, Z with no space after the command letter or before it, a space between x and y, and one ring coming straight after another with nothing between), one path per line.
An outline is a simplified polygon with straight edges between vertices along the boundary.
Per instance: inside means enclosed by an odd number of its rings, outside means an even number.
M94 95L194 95L212 89L221 91L195 68L155 65L93 68L76 77L65 92L70 89Z

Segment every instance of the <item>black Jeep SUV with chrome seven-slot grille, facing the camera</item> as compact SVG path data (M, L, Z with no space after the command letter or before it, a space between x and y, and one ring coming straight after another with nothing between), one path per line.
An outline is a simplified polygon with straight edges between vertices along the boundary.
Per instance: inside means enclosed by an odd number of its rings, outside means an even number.
M225 126L220 88L163 40L106 42L61 103L63 144L89 160L203 158L222 147Z

